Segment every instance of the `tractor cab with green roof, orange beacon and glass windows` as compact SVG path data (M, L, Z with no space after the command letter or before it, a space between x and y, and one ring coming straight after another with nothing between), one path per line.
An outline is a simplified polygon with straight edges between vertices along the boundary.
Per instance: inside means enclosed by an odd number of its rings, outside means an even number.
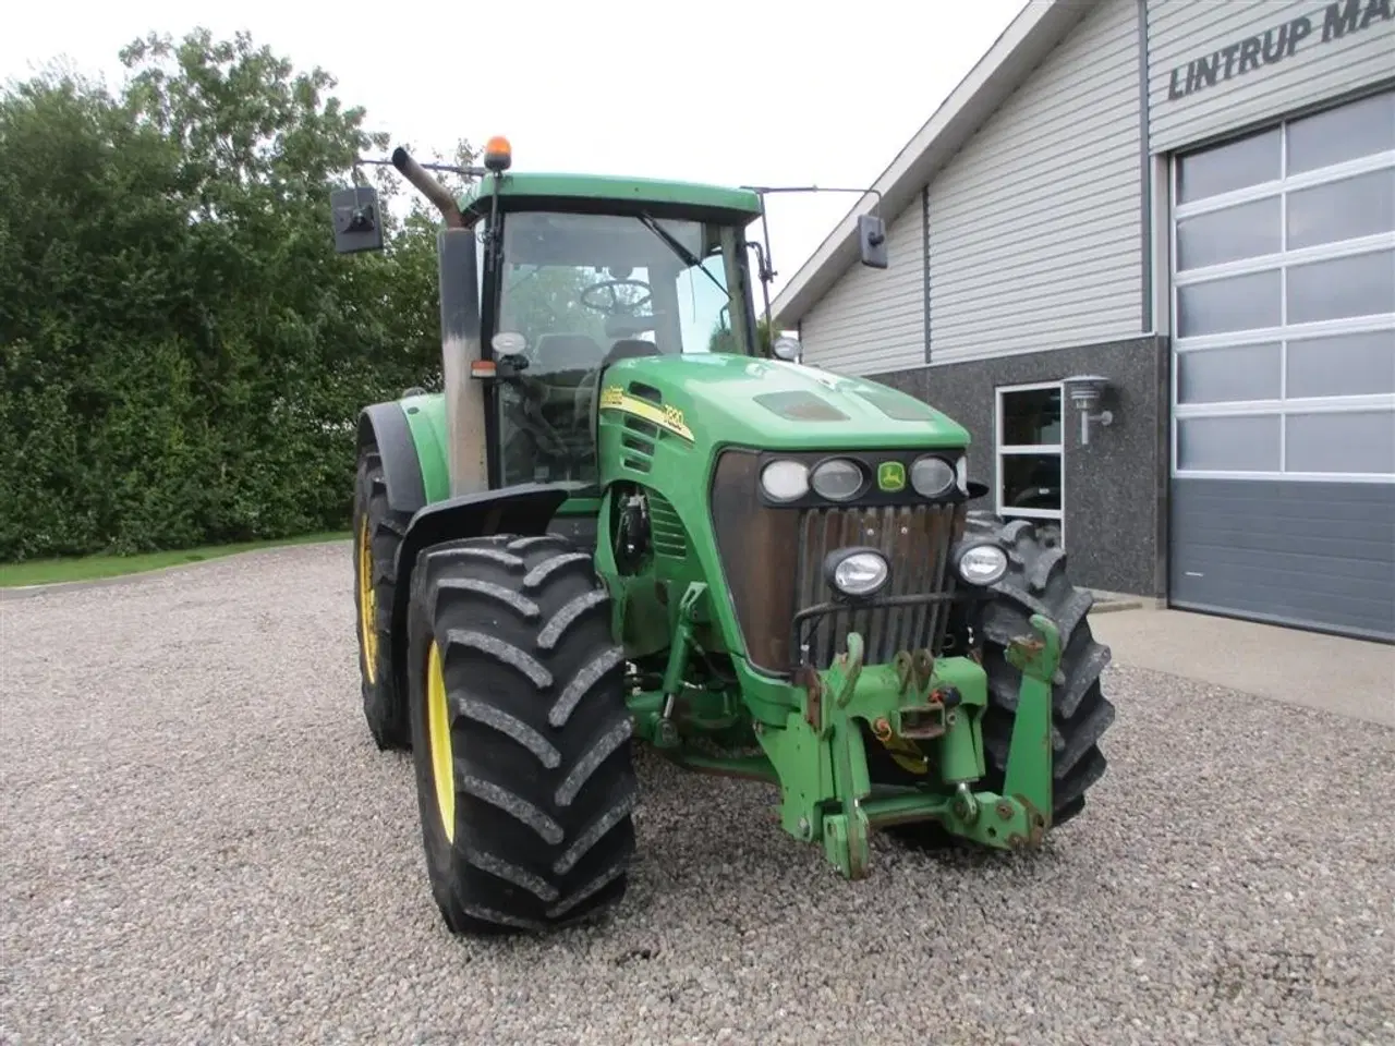
M459 199L403 149L392 165L445 218L445 435L462 450L452 495L564 483L568 515L583 510L600 494L596 399L611 363L759 351L759 245L745 234L763 213L756 191L511 173L504 138L490 139L483 169L441 167L476 179ZM335 194L339 252L382 250L377 205L367 187Z

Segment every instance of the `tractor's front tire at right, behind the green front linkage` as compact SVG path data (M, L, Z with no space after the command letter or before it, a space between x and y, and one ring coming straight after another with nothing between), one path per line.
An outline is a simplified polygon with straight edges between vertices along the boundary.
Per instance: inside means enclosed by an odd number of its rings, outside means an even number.
M1004 522L972 512L965 537L988 537L1007 549L1007 573L993 586L983 611L981 636L988 672L988 708L982 720L986 774L983 788L1003 791L1007 752L1017 717L1017 692L1023 674L1007 661L1007 646L1018 636L1035 635L1031 616L1042 614L1060 629L1060 667L1052 685L1052 826L1062 826L1085 808L1087 791L1103 777L1109 763L1099 739L1115 721L1115 706L1103 696L1099 676L1109 667L1109 647L1096 643L1089 628L1094 597L1077 589L1066 573L1066 552L1055 534L1038 531L1030 520ZM919 780L897 766L875 741L869 745L868 770L877 784L915 784ZM901 824L889 831L908 842L937 848L956 837L937 823Z

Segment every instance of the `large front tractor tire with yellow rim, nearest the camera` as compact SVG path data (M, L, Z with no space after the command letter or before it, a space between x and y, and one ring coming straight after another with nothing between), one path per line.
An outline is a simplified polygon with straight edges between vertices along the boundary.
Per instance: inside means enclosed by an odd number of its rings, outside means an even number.
M412 577L417 801L446 926L596 918L625 894L638 781L591 556L555 534L466 538L424 549Z

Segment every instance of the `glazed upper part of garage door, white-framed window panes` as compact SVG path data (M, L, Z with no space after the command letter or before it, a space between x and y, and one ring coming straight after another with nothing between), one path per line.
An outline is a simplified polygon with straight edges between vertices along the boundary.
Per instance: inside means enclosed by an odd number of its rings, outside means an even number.
M1175 476L1395 481L1395 92L1172 165Z

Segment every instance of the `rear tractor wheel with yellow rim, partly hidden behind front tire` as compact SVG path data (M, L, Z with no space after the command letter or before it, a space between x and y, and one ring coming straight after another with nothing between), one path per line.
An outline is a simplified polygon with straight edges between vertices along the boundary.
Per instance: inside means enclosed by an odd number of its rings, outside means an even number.
M393 512L377 444L359 449L354 483L354 614L363 715L378 750L407 749L407 706L392 679L392 597L398 584L398 547L410 515Z

